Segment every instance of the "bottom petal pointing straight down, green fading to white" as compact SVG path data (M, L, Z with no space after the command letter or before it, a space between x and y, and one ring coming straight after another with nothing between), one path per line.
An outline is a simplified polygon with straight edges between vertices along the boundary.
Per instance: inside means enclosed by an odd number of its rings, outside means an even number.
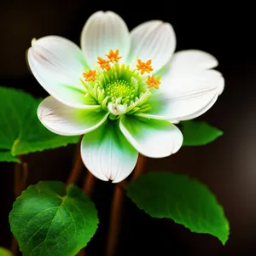
M137 150L127 142L114 121L85 134L81 154L84 165L94 176L113 183L131 174L138 157Z

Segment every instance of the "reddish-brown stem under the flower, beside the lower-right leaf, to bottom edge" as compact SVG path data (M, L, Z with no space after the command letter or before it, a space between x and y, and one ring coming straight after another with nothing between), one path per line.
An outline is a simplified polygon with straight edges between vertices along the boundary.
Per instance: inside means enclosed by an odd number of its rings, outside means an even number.
M144 166L146 163L146 157L142 154L139 154L139 158L137 160L137 166L133 172L133 176L131 180L137 179L137 177L143 173ZM112 208L110 213L110 224L108 230L108 244L106 250L106 256L113 256L115 254L115 248L117 246L119 231L120 231L120 223L121 223L121 214L122 214L122 206L124 201L124 187L125 181L118 183L115 186L113 192L113 201Z

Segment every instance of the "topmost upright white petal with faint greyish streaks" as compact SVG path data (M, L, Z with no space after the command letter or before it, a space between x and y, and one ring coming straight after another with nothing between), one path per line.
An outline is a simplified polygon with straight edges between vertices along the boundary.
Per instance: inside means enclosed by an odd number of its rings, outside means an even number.
M105 56L110 49L119 49L121 60L125 61L130 50L125 21L111 11L91 15L81 33L81 48L90 67L94 67L98 56Z

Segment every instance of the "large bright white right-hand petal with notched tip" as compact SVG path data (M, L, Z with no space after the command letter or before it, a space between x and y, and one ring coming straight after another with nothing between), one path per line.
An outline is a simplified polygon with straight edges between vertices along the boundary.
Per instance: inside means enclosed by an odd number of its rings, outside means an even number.
M222 74L209 69L217 64L218 61L212 55L199 50L187 50L173 55L159 92L148 100L151 109L137 115L178 122L195 119L205 113L224 90Z

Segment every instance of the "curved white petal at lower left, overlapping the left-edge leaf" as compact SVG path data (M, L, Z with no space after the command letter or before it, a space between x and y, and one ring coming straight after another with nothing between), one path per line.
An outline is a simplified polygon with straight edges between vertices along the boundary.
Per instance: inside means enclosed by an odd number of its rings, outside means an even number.
M95 130L106 121L108 113L101 108L71 108L49 96L39 104L38 118L49 131L73 136Z

